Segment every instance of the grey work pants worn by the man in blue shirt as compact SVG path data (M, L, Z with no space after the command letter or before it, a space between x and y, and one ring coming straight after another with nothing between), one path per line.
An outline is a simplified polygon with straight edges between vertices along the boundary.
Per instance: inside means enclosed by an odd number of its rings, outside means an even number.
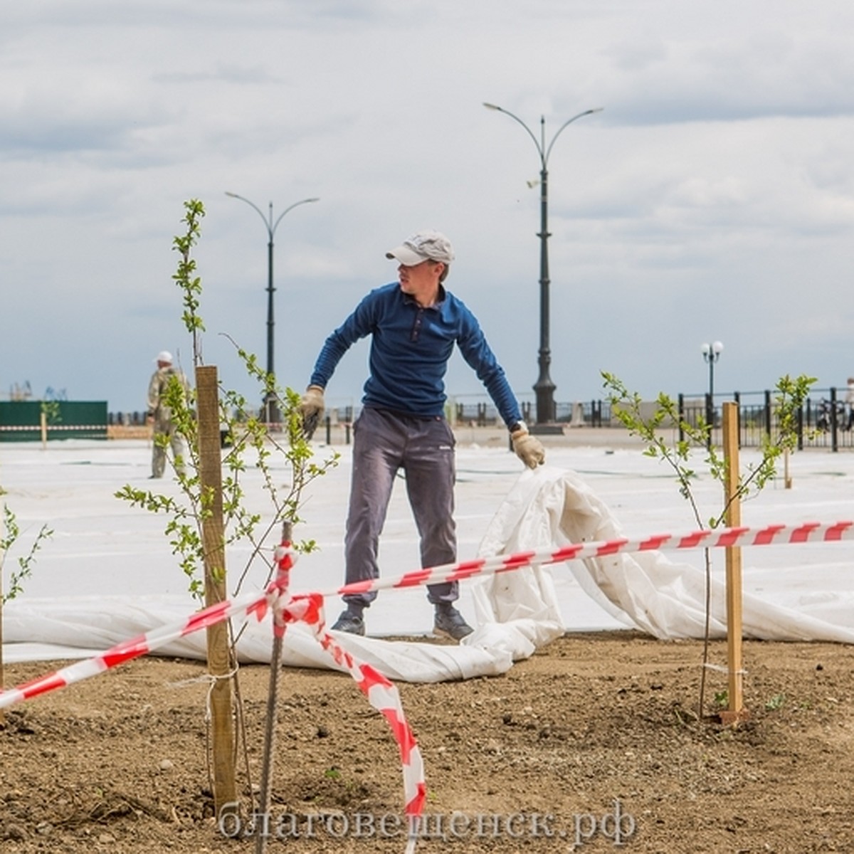
M354 424L353 477L344 538L348 584L379 576L379 535L398 470L406 475L422 567L456 561L453 445L453 432L444 418L410 418L369 407L362 410ZM453 602L458 596L457 582L427 588L427 598L434 604ZM376 591L343 597L356 607L366 607L376 598Z

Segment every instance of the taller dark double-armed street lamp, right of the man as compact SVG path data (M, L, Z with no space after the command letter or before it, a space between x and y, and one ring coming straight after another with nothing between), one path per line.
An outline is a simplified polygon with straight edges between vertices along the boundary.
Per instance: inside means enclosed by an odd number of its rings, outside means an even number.
M537 237L540 238L540 376L534 385L536 394L536 423L547 424L554 421L554 389L555 385L552 382L552 377L549 375L549 366L552 364L552 350L549 344L549 278L548 278L548 238L551 235L548 232L548 158L552 153L552 148L560 136L564 128L571 125L577 119L582 119L586 115L601 113L601 107L595 109L586 109L583 113L574 115L571 119L564 121L557 132L552 137L552 141L546 145L546 117L540 117L540 138L537 139L535 133L531 131L523 120L518 115L514 115L510 110L499 107L496 104L483 103L487 109L498 110L499 113L509 115L512 120L524 127L529 137L534 140L537 154L540 155L540 233ZM533 184L531 184L533 185Z

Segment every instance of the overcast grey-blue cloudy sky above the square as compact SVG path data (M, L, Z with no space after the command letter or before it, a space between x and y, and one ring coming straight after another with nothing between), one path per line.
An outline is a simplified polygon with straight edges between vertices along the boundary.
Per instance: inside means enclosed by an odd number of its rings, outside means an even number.
M447 233L448 287L533 400L539 155L549 167L557 401L854 375L851 0L28 0L0 7L0 400L30 383L144 407L155 354L192 371L173 283L183 203L203 354L254 395L274 218L276 371ZM227 337L226 337L227 336ZM360 399L366 345L330 403ZM483 389L454 356L449 395Z

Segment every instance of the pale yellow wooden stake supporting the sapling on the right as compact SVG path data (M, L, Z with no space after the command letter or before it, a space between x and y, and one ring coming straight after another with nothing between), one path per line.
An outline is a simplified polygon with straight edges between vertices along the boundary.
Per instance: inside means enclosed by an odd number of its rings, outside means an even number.
M739 490L739 406L733 401L723 404L723 457L726 463L724 498L727 502L726 524L741 524ZM747 717L744 708L744 671L741 664L741 549L730 546L727 553L727 671L728 705L722 712L725 723L738 723Z

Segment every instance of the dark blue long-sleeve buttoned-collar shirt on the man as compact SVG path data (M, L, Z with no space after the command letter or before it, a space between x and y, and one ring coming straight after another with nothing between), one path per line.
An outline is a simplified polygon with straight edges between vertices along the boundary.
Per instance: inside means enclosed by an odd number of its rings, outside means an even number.
M505 424L521 419L502 367L477 319L441 285L433 306L423 308L392 283L371 290L354 312L326 339L311 384L325 389L342 356L360 338L371 336L371 375L362 403L418 417L442 415L445 372L453 346L477 373Z

